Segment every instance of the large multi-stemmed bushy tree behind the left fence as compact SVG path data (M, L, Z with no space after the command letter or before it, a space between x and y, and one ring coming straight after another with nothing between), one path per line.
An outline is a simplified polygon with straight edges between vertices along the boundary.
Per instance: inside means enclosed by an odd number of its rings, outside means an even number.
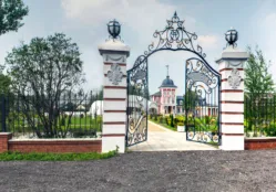
M45 137L65 136L67 131L61 130L58 124L58 106L64 93L83 95L79 92L85 81L82 64L78 45L62 33L34 38L30 44L14 47L6 57L12 90L22 102L23 115L38 137L42 135L30 115L30 108L35 110Z

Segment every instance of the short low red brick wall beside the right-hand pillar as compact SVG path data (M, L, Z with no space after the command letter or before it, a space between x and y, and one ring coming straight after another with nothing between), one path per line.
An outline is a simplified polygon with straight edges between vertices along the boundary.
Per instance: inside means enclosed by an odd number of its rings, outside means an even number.
M276 149L276 137L245 138L245 150Z

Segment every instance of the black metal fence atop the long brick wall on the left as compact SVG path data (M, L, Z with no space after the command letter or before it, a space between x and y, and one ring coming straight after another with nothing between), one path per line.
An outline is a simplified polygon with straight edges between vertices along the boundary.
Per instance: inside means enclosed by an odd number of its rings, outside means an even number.
M0 130L18 138L95 138L102 132L102 92L0 96Z

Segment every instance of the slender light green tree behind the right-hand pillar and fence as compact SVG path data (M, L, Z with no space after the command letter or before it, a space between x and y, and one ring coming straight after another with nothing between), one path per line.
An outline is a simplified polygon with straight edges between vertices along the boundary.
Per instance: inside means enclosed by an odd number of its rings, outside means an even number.
M275 90L270 62L267 62L263 52L256 46L255 52L247 47L249 57L245 65L245 117L247 129L254 129L254 135L260 130L262 124L267 120L269 111L274 110L269 104L269 95ZM262 131L262 130L260 130Z

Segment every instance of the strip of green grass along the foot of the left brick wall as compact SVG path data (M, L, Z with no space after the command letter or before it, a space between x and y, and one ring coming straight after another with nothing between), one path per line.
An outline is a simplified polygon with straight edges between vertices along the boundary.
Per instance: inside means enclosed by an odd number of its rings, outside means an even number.
M0 161L88 161L109 159L115 157L117 151L106 153L88 152L88 153L21 153L4 152L0 153Z

